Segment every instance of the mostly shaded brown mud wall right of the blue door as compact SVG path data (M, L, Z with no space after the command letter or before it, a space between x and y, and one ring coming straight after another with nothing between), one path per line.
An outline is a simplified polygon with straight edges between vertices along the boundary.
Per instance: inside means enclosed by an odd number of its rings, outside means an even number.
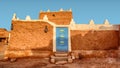
M72 50L109 50L117 49L119 31L71 30Z

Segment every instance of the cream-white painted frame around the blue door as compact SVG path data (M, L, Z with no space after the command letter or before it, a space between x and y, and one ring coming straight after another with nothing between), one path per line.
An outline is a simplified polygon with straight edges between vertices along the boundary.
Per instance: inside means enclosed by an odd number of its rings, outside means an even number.
M56 25L53 27L53 52L56 52L56 28L67 27L68 28L68 52L71 52L71 38L70 38L70 26L69 25Z

